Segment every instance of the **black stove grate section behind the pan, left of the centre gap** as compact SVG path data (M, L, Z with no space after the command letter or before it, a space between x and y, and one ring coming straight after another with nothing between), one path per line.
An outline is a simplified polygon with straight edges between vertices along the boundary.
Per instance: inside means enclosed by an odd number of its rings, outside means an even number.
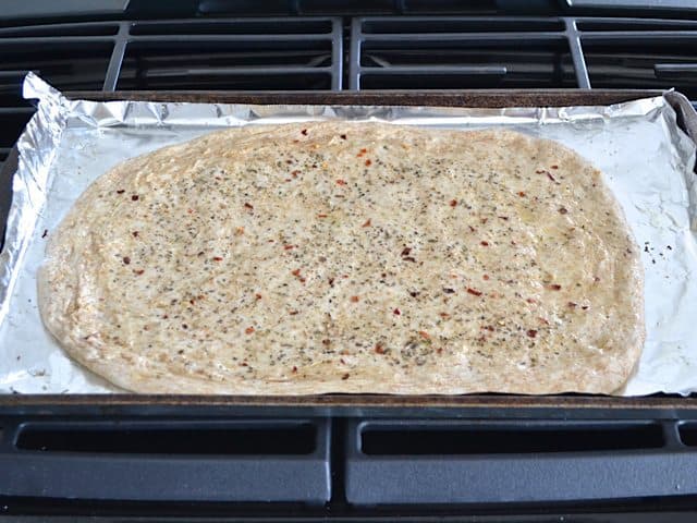
M339 17L0 28L0 165L33 114L27 71L62 90L341 89L342 31Z

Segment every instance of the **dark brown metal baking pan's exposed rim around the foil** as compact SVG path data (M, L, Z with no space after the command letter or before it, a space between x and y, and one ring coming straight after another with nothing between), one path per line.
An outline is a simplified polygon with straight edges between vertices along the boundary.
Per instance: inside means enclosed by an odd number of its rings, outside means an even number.
M598 106L661 95L658 90L453 90L453 92L75 92L93 100L160 100L230 104L333 104L448 107ZM697 143L697 113L680 93L664 96L681 127ZM0 170L0 216L5 217L16 149ZM653 396L613 398L585 394L527 397L514 394L387 396L322 394L303 397L150 396L150 394L11 394L0 397L0 414L81 415L243 415L256 416L402 416L402 417L596 417L644 416L697 418L697 398Z

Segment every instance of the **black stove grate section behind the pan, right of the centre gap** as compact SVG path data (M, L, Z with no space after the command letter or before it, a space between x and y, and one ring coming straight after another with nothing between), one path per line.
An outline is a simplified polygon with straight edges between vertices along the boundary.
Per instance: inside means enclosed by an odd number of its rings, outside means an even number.
M356 17L350 87L675 87L697 98L696 42L696 21Z

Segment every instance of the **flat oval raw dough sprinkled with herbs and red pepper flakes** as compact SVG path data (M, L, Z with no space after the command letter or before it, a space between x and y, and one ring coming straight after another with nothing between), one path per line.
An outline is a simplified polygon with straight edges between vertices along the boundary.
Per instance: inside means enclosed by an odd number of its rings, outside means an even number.
M499 130L247 126L124 161L52 235L39 297L138 392L610 393L645 332L601 173Z

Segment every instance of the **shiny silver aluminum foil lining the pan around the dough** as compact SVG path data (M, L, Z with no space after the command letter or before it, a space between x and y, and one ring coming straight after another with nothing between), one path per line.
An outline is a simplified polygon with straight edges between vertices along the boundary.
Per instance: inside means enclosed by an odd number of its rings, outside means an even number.
M663 97L610 107L254 106L70 100L29 73L38 111L20 162L0 255L0 393L120 392L70 360L41 324L36 270L77 196L126 158L217 127L363 120L426 127L505 126L561 142L603 171L643 251L647 339L624 396L697 391L695 144Z

